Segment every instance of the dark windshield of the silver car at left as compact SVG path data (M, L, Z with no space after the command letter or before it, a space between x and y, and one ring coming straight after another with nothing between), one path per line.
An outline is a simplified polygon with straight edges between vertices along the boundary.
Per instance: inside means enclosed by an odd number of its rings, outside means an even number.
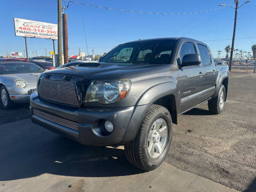
M34 63L4 62L0 63L0 75L19 73L42 73L44 69Z

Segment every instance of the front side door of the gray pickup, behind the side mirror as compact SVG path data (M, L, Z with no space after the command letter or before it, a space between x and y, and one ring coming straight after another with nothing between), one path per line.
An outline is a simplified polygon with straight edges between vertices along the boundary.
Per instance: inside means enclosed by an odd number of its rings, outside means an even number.
M178 88L181 98L179 114L193 108L202 101L201 94L204 81L201 65L182 67L182 59L186 54L198 54L193 42L186 42L181 45L178 65Z

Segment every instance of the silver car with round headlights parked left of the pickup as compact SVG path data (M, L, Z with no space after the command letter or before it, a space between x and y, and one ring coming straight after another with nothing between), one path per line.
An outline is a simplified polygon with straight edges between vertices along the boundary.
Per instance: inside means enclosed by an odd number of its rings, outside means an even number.
M0 62L1 105L9 108L13 102L29 102L30 94L36 91L37 76L43 68L29 62Z

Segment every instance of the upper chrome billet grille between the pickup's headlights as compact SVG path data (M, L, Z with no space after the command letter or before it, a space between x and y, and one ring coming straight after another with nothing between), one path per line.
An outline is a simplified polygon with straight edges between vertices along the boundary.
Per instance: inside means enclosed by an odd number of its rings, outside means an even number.
M41 79L39 84L39 97L79 107L74 82L47 78Z

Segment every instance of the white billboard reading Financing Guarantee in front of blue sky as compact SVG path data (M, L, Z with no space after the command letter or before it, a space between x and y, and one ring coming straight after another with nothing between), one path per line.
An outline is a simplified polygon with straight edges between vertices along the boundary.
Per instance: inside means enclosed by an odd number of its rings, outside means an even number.
M58 25L13 18L15 36L58 39Z

